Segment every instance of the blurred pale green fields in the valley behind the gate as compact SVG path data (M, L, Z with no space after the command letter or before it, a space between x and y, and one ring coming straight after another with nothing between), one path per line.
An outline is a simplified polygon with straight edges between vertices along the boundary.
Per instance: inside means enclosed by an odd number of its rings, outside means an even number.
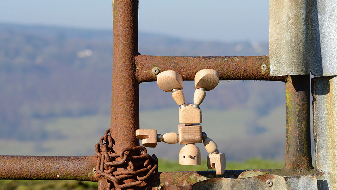
M229 161L244 161L252 157L283 160L284 113L284 107L274 109L263 117L257 117L249 109L204 109L202 126L203 131L218 144L219 151L226 153ZM110 115L33 119L31 124L43 126L51 134L50 138L37 141L2 138L0 143L6 146L0 147L0 155L93 155L94 145L110 127ZM141 129L156 129L160 134L177 133L178 124L177 109L140 113ZM203 158L206 158L204 145L196 145L202 151ZM147 149L158 157L177 160L182 146L179 143L158 143L156 148Z

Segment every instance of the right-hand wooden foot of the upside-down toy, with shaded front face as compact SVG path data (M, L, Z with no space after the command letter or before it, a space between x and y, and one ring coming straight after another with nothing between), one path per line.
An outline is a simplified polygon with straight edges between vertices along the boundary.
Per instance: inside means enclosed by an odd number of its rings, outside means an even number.
M213 69L203 69L198 71L194 76L195 89L206 88L212 90L219 83L219 74Z

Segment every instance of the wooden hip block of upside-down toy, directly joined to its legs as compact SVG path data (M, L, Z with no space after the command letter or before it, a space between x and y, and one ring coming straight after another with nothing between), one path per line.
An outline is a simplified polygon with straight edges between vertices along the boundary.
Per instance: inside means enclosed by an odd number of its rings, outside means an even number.
M200 108L195 108L192 104L179 108L179 123L181 124L200 124L202 113Z

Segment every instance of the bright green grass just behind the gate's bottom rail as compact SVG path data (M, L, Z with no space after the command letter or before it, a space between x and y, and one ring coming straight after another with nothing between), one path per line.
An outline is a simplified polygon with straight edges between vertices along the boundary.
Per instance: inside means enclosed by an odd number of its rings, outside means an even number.
M178 161L159 159L159 171L209 170L206 160L198 166L179 165ZM226 170L234 169L278 169L284 162L252 158L245 162L227 162ZM58 180L0 180L0 190L97 190L98 183Z

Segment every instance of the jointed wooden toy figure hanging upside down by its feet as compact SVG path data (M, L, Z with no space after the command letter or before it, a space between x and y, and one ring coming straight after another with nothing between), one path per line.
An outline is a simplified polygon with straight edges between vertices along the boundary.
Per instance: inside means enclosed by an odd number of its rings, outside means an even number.
M136 138L142 139L142 145L147 147L156 147L157 142L166 142L169 144L184 145L179 152L179 164L181 165L200 165L201 152L195 143L204 143L207 155L207 166L214 169L217 175L222 175L225 171L226 158L225 153L219 153L216 143L202 132L202 112L200 104L206 97L206 91L212 90L219 83L219 74L212 69L203 69L198 71L194 77L195 92L193 104L186 104L183 89L183 79L175 71L164 71L157 75L159 88L165 92L172 92L172 97L179 108L178 134L165 133L157 134L154 129L136 130Z

